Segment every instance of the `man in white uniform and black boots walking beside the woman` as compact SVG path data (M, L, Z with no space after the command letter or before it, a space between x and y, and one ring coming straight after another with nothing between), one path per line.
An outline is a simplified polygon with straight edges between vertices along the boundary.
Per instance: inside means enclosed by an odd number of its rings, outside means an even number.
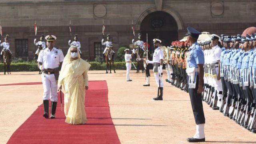
M56 36L48 35L45 37L47 40L47 48L41 50L38 55L38 68L42 70L42 83L44 87L43 103L44 103L44 117L49 118L49 99L52 102L51 116L55 118L58 94L57 94L57 81L59 71L64 60L61 50L54 47Z

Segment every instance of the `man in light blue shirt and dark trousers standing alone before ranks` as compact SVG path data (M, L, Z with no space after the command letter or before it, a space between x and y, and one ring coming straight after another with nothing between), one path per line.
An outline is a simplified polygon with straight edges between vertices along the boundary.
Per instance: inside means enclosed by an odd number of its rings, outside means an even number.
M187 56L188 91L191 100L192 110L196 122L196 134L188 138L188 142L205 142L204 137L204 110L202 104L202 92L204 84L204 53L197 43L198 30L188 27L187 40L190 48Z

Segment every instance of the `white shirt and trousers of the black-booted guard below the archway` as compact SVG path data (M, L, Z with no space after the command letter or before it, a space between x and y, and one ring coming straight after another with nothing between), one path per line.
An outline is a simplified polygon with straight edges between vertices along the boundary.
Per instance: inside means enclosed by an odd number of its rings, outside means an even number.
M164 59L164 52L160 49L160 47L158 47L158 48L155 49L154 54L153 54L153 63L154 62L159 63L159 66L160 66L160 60L161 59L162 60ZM157 86L159 87L159 78L160 78L160 87L164 87L164 83L162 81L162 77L159 76L159 68L160 68L159 66L157 68L158 69L157 73L154 72L154 76L155 76L155 79L156 79Z

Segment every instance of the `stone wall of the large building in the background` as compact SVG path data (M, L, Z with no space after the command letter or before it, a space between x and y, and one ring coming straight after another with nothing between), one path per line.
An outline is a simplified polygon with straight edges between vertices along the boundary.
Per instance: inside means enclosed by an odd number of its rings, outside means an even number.
M178 34L178 39L183 38L187 26L215 34L235 35L256 25L255 0L0 1L0 21L4 35L10 35L10 49L15 56L15 39L28 39L29 58L34 56L35 22L38 26L37 38L39 39L41 34L57 36L56 47L62 48L66 53L69 40L68 27L71 21L72 35L78 34L82 44L82 57L94 60L94 42L100 42L102 39L102 19L106 26L105 34L109 33L113 36L114 50L117 51L119 46L131 43L132 20L137 39L140 26L145 25L142 24L144 18L156 11L170 14L177 26L173 34ZM73 38L74 36L71 39ZM3 36L1 39L3 41ZM145 39L144 36L143 40Z

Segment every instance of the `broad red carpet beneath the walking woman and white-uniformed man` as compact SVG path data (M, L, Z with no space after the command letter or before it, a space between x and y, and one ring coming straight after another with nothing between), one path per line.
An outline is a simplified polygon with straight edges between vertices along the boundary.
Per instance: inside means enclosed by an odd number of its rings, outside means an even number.
M8 144L120 144L110 116L106 81L89 82L85 125L66 124L60 99L58 101L56 119L45 119L43 105L40 105L12 134Z

